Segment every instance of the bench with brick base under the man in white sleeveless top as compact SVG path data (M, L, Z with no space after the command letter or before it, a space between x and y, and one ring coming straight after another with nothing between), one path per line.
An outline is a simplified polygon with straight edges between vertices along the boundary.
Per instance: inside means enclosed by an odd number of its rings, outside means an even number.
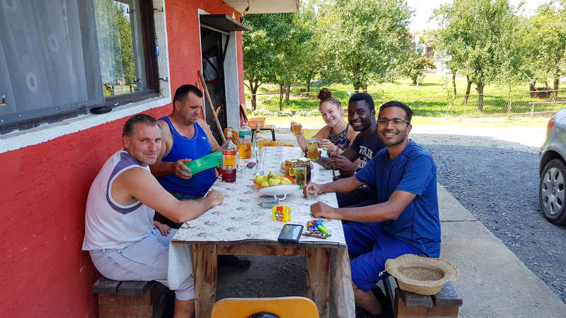
M171 302L168 288L156 281L112 281L101 276L93 284L98 317L161 317Z

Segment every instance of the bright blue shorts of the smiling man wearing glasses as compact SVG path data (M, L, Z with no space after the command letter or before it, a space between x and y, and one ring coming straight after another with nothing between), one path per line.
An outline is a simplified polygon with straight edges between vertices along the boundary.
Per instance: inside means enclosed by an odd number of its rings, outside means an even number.
M352 282L361 290L368 291L377 281L389 276L385 261L403 254L422 255L419 249L383 231L381 223L350 222L344 227L350 260Z

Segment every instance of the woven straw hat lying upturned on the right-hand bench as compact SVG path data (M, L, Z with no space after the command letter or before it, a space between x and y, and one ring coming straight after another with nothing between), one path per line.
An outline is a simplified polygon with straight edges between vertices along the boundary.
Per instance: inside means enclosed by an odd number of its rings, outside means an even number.
M399 288L421 295L437 294L445 283L458 278L458 269L449 262L415 254L388 259L385 269L397 278Z

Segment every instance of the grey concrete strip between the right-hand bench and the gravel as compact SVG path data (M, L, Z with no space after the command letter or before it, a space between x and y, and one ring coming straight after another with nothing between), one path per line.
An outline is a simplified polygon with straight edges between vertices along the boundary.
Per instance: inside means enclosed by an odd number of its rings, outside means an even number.
M566 304L439 185L441 258L458 267L461 317L566 317Z

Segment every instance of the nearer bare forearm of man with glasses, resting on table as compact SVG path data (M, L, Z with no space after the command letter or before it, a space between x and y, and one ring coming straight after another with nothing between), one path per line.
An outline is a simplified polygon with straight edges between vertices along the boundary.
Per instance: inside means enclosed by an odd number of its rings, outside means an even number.
M333 218L356 222L381 222L396 220L417 195L396 190L386 202L360 208L334 208L317 202L311 205L311 213L316 218Z

